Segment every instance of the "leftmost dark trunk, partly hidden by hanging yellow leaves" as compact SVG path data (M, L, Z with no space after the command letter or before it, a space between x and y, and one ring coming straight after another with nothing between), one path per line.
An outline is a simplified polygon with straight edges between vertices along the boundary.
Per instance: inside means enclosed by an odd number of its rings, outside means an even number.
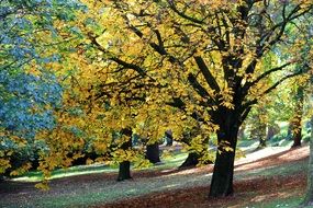
M122 146L122 150L128 150L132 148L132 130L131 129L123 129L122 130L123 135L128 136L128 140L125 141ZM118 181L125 181L125 180L131 180L131 162L130 161L122 161L120 163L120 169L119 169L119 176Z

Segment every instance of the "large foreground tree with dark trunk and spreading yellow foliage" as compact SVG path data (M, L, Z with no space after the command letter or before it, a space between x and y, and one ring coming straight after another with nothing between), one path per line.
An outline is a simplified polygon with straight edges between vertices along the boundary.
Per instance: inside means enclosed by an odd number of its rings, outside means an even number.
M210 196L231 195L239 126L265 94L303 73L291 67L301 61L297 53L270 69L262 61L288 38L291 23L310 15L311 1L96 4L107 21L89 33L89 39L97 57L110 65L105 70L120 80L127 78L128 91L147 90L144 97L149 103L186 112L206 137L216 132ZM269 85L272 74L281 78Z

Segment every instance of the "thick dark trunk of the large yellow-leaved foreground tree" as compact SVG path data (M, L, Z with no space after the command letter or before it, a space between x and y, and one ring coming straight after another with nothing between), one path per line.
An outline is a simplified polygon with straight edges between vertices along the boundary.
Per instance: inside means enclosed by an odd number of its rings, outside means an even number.
M231 118L228 117L228 119ZM233 120L236 119L233 118ZM226 120L225 125L220 125L217 132L219 148L210 186L210 197L228 196L234 192L233 175L238 129L237 123L232 120Z

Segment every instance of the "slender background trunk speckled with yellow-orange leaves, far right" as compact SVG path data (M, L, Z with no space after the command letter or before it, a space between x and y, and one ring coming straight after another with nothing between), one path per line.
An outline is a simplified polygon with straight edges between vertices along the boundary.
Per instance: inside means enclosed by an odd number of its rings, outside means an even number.
M293 138L292 148L301 146L301 138L302 138L301 123L302 123L303 102L304 102L303 86L298 86L295 99L297 99L297 106L294 111L294 117L292 118L292 138Z

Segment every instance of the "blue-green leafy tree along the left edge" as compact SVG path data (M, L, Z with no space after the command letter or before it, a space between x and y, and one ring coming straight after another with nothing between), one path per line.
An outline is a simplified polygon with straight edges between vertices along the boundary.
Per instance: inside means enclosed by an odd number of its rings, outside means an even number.
M55 45L67 42L57 33L70 28L56 22L68 22L78 8L75 1L0 2L0 173L27 171L46 148L35 137L54 128L63 92L48 65L59 61Z

